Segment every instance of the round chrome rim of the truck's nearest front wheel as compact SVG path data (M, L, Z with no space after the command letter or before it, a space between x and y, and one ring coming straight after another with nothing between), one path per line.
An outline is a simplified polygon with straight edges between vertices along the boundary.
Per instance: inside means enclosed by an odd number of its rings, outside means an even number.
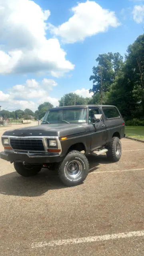
M77 178L82 172L82 164L77 160L71 161L66 168L66 172L70 178Z

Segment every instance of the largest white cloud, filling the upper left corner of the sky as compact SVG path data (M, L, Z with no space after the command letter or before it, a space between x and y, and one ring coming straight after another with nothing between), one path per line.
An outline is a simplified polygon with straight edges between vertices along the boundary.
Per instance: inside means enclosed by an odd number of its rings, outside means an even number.
M46 39L43 11L31 0L0 1L0 73L50 72L62 76L74 69L56 38Z

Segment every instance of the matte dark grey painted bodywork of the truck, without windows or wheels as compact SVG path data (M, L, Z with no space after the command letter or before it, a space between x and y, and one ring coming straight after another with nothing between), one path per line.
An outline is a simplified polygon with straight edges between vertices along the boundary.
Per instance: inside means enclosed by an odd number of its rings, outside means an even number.
M38 156L38 152L36 153L36 156L30 157L30 159L27 157L28 154L30 155L30 152L26 152L26 157L24 156L24 152L12 152L11 150L5 150L5 152L0 153L0 157L2 159L5 159L7 161L15 161L15 160L25 160L25 158L28 160L28 163L34 163L34 159L37 162L60 162L62 161L62 158L66 156L67 152L70 148L76 149L77 145L78 147L81 147L80 149L84 150L85 153L93 152L94 150L97 150L98 148L101 148L102 146L108 144L113 136L117 136L118 138L124 137L124 120L119 112L119 118L110 118L107 119L104 115L103 108L108 107L114 107L114 106L101 106L101 105L88 105L88 106L65 106L65 107L59 107L54 109L74 109L74 108L86 108L87 109L87 121L86 123L73 123L73 124L67 124L65 122L63 123L56 123L56 124L41 124L39 126L32 126L32 127L25 127L20 128L16 130L9 130L4 132L2 138L6 137L45 137L45 136L56 136L60 140L60 144L62 147L61 154L45 154L45 157L41 154ZM94 127L92 123L88 123L88 109L98 109L99 113L102 114L102 120L100 122L100 126L98 129ZM116 108L116 107L115 107ZM54 110L53 109L53 110ZM116 108L117 109L117 108ZM118 109L117 109L118 110ZM62 137L67 137L66 140L61 140ZM81 150L81 151L82 151ZM20 154L22 153L22 154ZM18 156L20 154L20 157ZM37 158L38 156L38 158ZM52 158L52 156L55 156ZM57 159L58 157L58 159Z

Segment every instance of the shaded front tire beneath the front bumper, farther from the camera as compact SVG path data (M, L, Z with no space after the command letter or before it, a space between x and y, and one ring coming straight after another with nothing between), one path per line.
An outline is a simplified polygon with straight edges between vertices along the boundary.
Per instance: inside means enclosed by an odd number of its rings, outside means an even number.
M30 177L35 176L40 172L42 169L42 166L30 166L30 165L24 165L21 162L14 162L14 168L18 174L24 177Z

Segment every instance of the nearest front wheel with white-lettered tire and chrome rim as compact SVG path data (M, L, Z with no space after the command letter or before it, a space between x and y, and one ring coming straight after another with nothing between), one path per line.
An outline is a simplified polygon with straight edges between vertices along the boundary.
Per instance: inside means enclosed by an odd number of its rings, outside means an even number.
M60 180L66 186L81 184L88 175L88 159L79 151L73 150L64 158L59 166L58 174Z

